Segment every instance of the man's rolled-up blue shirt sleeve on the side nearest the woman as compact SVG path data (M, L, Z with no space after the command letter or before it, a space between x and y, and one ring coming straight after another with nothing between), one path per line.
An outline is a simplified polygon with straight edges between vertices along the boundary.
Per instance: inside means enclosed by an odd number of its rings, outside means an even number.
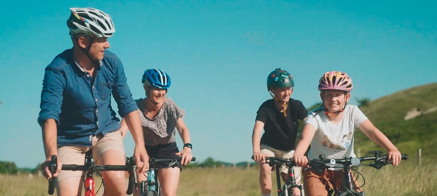
M120 59L115 59L116 76L112 86L112 95L118 105L118 114L124 117L126 114L138 109L125 76L125 69Z

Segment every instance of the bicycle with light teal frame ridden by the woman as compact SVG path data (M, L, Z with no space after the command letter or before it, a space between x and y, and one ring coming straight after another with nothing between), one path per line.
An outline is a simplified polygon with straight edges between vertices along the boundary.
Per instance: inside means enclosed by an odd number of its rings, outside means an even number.
M161 196L160 182L158 181L158 164L160 162L168 162L169 165L166 168L174 168L180 165L181 158L171 159L149 159L149 170L147 172L147 180L140 183L140 196ZM191 161L196 161L196 158L191 158ZM153 172L153 173L152 173Z

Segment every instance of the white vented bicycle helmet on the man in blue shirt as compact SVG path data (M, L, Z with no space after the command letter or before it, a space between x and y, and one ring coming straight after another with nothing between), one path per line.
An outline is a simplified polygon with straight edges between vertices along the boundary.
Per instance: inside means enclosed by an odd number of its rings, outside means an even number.
M70 35L91 35L93 38L112 37L115 32L111 16L94 8L70 8L67 20Z

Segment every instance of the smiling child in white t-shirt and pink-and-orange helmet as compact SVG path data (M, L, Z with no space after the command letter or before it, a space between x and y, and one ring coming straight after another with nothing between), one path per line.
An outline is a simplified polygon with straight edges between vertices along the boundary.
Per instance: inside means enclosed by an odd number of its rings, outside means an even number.
M298 166L305 166L308 159L356 157L354 154L354 130L359 128L372 141L388 151L393 166L401 161L401 153L355 105L347 105L352 91L352 80L346 73L331 71L319 80L320 98L323 107L310 111L305 121L302 137L293 159ZM308 158L305 151L311 144ZM341 166L341 165L336 165ZM319 174L312 170L304 172L305 193L309 196L328 195L328 188L336 193L341 190L343 170L330 168Z

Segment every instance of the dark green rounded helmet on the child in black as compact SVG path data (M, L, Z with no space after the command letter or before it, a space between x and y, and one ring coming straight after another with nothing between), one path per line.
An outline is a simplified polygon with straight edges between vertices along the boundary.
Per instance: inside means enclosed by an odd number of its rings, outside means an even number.
M277 68L272 71L267 77L267 91L270 91L272 88L284 88L284 87L294 87L295 82L293 81L293 77L286 70L281 70L281 68Z

